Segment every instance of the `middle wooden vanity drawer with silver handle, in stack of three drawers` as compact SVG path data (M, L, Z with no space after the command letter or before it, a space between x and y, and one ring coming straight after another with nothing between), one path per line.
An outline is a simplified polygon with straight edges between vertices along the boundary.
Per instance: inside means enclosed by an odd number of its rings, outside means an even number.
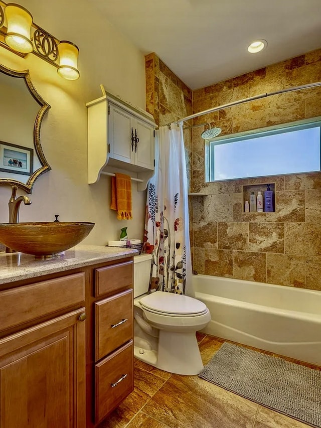
M95 303L96 361L132 339L132 299L130 289Z

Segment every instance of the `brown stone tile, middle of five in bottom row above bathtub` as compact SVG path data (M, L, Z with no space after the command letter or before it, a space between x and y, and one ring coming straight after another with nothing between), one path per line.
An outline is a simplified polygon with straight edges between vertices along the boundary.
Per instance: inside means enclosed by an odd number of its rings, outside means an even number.
M266 255L233 251L233 278L266 282Z

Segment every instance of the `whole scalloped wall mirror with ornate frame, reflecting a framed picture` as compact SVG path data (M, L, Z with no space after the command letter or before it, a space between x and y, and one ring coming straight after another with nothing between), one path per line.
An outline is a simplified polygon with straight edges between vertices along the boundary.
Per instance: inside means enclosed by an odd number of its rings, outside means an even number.
M32 193L35 180L51 170L40 128L50 105L39 95L29 71L0 65L0 185Z

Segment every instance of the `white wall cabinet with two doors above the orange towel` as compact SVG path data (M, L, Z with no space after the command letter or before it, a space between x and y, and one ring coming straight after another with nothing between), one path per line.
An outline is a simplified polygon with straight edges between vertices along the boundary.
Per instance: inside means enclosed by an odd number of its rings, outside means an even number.
M95 183L109 167L131 171L144 188L154 171L154 129L151 114L106 93L88 107L88 182Z

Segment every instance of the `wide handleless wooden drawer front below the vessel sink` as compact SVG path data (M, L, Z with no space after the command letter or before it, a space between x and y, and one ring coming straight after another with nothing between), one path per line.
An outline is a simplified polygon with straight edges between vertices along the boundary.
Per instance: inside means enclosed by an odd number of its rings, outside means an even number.
M0 292L0 330L6 330L84 301L84 272Z

